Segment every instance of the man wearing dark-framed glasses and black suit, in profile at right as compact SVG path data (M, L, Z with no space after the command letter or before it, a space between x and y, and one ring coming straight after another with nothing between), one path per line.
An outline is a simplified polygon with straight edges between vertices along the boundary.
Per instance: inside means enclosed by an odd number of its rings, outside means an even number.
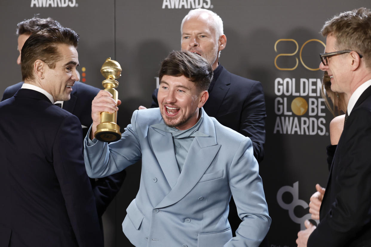
M349 99L317 227L309 221L303 246L371 246L371 10L360 8L325 23L320 69L331 90Z

